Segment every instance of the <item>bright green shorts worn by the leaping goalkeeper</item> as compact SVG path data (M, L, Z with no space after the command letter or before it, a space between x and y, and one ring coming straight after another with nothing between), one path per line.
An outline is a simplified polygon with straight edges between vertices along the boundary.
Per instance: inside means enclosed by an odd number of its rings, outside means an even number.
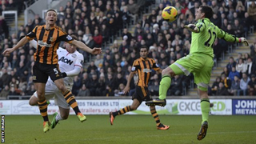
M206 54L188 54L186 57L178 59L170 68L175 74L194 74L194 83L200 90L206 91L210 83L210 73L214 66L213 58Z

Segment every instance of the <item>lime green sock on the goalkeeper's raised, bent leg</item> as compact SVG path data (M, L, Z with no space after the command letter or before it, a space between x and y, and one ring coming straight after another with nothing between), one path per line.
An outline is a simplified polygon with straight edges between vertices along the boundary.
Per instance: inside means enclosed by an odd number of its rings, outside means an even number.
M170 87L171 78L169 75L162 76L159 86L159 99L166 99L167 90Z

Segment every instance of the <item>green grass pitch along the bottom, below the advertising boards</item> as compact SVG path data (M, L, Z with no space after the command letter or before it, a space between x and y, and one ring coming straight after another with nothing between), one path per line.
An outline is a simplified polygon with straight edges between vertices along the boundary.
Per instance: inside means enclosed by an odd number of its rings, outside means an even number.
M256 116L210 115L209 129L202 141L196 138L201 116L159 116L162 123L170 125L169 130L157 130L151 115L118 116L113 126L110 126L108 115L87 115L86 122L79 122L71 115L54 130L43 133L39 115L6 115L5 143L256 143Z

